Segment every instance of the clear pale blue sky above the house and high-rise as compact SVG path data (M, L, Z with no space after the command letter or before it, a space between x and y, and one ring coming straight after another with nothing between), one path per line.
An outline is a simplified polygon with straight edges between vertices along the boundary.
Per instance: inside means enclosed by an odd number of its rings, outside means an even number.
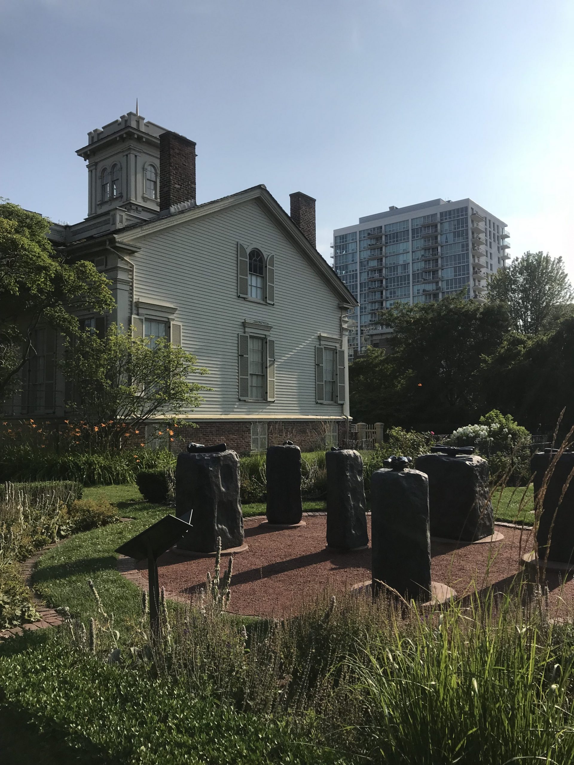
M0 195L86 215L86 132L135 109L197 142L197 200L358 216L470 196L574 277L572 0L0 0Z

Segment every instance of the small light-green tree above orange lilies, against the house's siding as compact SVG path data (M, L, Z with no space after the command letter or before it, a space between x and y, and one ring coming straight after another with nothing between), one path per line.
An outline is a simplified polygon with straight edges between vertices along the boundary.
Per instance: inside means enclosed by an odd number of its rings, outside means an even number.
M197 409L200 392L209 390L188 380L207 374L193 354L165 337L132 337L115 324L104 337L86 331L70 338L60 366L73 384L70 408L92 425L91 443L99 446L121 445L150 418Z

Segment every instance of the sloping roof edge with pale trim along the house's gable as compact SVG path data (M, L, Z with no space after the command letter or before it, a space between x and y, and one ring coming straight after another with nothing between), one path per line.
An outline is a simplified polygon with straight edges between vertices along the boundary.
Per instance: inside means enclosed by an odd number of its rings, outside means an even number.
M283 233L292 241L299 252L305 256L305 259L307 259L315 272L321 276L323 281L334 291L334 294L338 296L342 305L353 308L358 304L357 299L354 298L351 291L344 285L334 269L331 268L315 247L311 245L307 237L302 234L298 226L293 223L289 215L283 210L275 197L269 194L269 191L263 184L239 191L236 194L230 194L228 197L221 197L211 202L198 204L195 207L190 207L188 210L181 210L178 213L158 217L145 223L135 223L113 233L103 234L97 237L97 239L113 239L119 245L133 246L136 244L137 239L142 236L148 236L150 233L168 229L171 226L178 226L181 223L187 223L201 216L225 210L228 207L233 207L250 200L258 203L267 216L282 229Z

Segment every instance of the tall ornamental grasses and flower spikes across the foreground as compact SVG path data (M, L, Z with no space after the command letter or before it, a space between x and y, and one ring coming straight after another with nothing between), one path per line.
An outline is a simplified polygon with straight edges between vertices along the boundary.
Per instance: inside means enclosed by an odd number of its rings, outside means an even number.
M321 741L357 761L574 760L574 631L536 584L517 579L444 610L325 592L300 616L266 620L226 613L231 564L222 574L216 560L188 604L162 594L159 640L145 594L121 638L93 592L95 618L68 620L64 650L241 713L295 726L311 715Z

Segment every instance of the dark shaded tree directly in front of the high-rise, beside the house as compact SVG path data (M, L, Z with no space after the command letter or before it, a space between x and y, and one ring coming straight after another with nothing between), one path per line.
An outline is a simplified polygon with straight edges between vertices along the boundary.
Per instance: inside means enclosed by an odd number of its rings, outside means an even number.
M349 369L354 418L445 432L480 411L481 358L509 330L503 304L455 295L397 305L381 321L393 330L390 353L371 351Z

